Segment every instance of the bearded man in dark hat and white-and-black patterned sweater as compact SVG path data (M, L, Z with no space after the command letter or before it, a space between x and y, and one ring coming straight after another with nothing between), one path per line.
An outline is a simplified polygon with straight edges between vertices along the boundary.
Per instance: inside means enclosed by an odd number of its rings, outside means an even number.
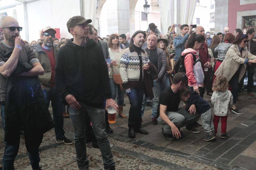
M144 94L143 70L148 70L148 54L141 47L145 42L146 33L136 31L131 38L131 46L124 50L120 60L120 75L123 87L130 100L128 119L128 136L135 138L135 132L148 134L141 128L141 106Z

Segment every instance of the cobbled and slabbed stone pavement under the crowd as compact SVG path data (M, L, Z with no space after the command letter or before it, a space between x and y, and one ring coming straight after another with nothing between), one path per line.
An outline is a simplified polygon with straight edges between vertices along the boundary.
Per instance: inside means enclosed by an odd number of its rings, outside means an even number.
M210 100L209 96L205 96ZM128 119L117 118L108 134L113 144L112 152L116 169L255 169L256 166L256 97L241 93L237 108L242 115L229 114L227 130L231 137L204 142L204 129L199 134L191 134L184 128L184 137L173 142L167 141L161 134L160 125L151 124L151 107L146 107L142 126L148 135L136 134L135 139L128 138ZM128 115L129 100L125 96L124 113ZM180 105L181 106L181 105ZM51 108L49 108L51 111ZM200 121L199 121L200 122ZM70 119L65 119L66 136L73 138ZM220 127L219 127L220 130ZM0 164L4 153L4 132L0 128ZM87 144L90 169L103 169L99 149ZM55 143L54 130L44 134L40 146L40 165L44 170L78 169L74 145ZM15 169L31 169L24 137L21 137L20 150L15 160Z

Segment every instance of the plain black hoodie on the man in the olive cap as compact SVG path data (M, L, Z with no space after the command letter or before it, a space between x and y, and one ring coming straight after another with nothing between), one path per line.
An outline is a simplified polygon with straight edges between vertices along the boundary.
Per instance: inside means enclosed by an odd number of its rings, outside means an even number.
M61 47L56 57L55 84L63 103L68 94L79 103L103 108L103 101L111 98L108 66L102 49L94 40L85 46L73 43L73 38Z

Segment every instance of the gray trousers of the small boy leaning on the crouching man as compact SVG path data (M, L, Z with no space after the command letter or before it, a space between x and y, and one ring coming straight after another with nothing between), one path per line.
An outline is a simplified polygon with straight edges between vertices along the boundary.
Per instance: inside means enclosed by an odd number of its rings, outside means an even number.
M203 114L201 114L202 119L202 126L204 131L209 135L214 135L214 124L213 124L213 116L212 116L212 109L210 108Z

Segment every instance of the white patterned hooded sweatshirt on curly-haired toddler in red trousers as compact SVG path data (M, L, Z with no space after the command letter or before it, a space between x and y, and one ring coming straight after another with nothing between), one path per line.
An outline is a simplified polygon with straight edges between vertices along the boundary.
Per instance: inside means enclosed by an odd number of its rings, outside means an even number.
M229 108L233 106L233 96L229 90L225 92L214 91L211 101L214 105L213 113L216 116L227 116Z

